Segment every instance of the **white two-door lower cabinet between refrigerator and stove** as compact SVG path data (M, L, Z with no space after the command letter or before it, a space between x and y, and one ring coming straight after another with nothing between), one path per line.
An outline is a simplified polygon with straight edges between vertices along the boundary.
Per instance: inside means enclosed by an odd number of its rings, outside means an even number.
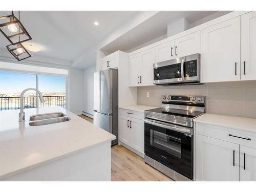
M120 111L118 117L119 142L126 144L140 154L144 154L144 120L131 117L136 116L136 112L129 111L127 113L130 116L126 116L120 114Z

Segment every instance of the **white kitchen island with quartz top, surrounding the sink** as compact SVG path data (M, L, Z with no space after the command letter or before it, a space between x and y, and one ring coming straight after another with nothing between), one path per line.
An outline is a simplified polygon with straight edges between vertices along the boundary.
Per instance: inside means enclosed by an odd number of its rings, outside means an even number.
M61 108L0 112L0 180L111 181L111 141L116 136ZM61 112L71 120L30 126L31 115Z

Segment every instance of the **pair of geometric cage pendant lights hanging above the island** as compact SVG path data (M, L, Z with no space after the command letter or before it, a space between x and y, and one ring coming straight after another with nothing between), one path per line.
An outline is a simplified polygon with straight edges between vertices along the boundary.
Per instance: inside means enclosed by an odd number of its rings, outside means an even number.
M6 46L7 50L18 61L31 57L28 50L22 45L22 42L31 40L32 38L24 28L22 23L20 23L19 11L18 11L18 19L14 16L13 11L11 15L0 17L0 20L1 19L9 19L8 22L0 24L0 31L11 42L10 45ZM22 30L22 32L20 32L20 30ZM15 34L10 34L10 33L15 33Z

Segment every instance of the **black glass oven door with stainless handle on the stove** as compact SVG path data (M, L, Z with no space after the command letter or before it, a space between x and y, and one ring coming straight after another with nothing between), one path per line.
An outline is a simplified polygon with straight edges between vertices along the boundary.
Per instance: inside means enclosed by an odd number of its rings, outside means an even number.
M145 155L193 179L192 129L151 119L144 120Z

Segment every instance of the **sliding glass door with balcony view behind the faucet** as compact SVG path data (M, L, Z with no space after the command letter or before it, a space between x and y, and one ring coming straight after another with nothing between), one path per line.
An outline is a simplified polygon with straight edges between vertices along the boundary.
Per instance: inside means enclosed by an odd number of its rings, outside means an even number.
M0 111L20 109L20 93L27 88L38 89L46 102L40 103L36 92L28 91L24 108L66 108L66 77L0 71Z

